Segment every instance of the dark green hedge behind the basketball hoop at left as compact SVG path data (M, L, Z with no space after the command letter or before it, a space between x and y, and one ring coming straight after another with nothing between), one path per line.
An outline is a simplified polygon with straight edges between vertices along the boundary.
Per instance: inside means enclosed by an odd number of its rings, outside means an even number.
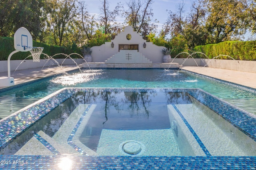
M71 53L78 53L80 55L81 52L78 49L78 47L76 47L75 49L69 49L66 47L60 47L60 46L54 46L54 45L46 45L44 43L39 43L36 41L33 41L33 46L34 47L44 47L44 50L42 53L45 53L48 56L53 56L55 54L58 53L64 53L66 55L69 55ZM0 37L0 60L7 60L8 56L10 55L10 53L12 53L12 51L14 51L14 39L10 38L10 37ZM15 53L14 55L12 55L11 60L23 60L26 59L26 57L28 57L29 55L31 55L30 52L18 52ZM46 55L41 55L40 59L45 59ZM81 58L78 55L72 55L72 58ZM62 59L62 58L66 58L66 56L64 55L56 55L54 56L54 59ZM29 57L28 59L32 59L32 57Z

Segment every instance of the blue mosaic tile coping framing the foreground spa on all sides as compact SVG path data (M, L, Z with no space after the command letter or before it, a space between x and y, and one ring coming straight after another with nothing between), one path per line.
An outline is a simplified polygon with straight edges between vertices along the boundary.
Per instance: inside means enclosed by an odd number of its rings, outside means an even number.
M250 136L256 141L256 116L248 113L236 106L218 99L215 96L208 94L200 89L176 89L176 88L63 88L57 92L38 100L24 109L2 119L0 121L0 147L4 148L8 143L12 142L14 138L18 137L20 133L26 131L27 128L32 126L36 121L42 119L52 109L56 108L59 104L70 98L72 94L79 91L88 90L105 90L105 91L163 91L169 90L170 92L187 92L193 97L198 99L206 106L212 108L216 113L221 115L224 119L228 120L235 126L239 126L246 135ZM168 92L169 92L168 91ZM221 106L219 105L221 102ZM219 107L220 106L220 107ZM44 113L40 114L38 108L44 108ZM243 113L241 115L241 113ZM245 115L244 115L245 114ZM15 124L16 122L16 124ZM238 128L238 129L239 129ZM5 141L3 141L3 139ZM0 168L10 167L38 167L41 168L54 168L58 164L59 159L65 156L16 156L16 155L1 155L0 160L10 160L12 164L0 164ZM256 168L256 156L72 156L77 162L74 167L83 168L138 168L138 169L154 169L154 168L188 168L197 167L198 169L208 169L215 167L215 169L233 169L233 168ZM13 164L16 160L27 160L29 164ZM138 161L141 160L141 161ZM51 162L45 164L43 162ZM134 164L134 162L138 162ZM227 163L230 162L230 163ZM112 164L110 166L110 164ZM153 166L154 165L154 166ZM85 168L84 167L84 168ZM32 168L33 169L33 168ZM76 168L75 168L76 169Z

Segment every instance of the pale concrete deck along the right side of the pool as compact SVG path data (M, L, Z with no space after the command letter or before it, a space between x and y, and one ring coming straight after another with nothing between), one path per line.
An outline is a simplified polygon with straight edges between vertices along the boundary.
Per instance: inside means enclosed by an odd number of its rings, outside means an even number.
M183 66L182 69L256 88L256 73L196 66Z

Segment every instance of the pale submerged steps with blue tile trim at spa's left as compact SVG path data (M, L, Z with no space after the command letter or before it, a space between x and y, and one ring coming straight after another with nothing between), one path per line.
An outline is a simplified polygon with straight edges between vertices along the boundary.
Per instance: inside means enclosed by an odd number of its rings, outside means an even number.
M16 155L81 155L77 148L88 155L97 155L79 140L95 107L95 104L90 107L89 104L78 105L53 137L39 131L16 152ZM70 140L70 136L73 137L72 140ZM70 145L71 143L72 145Z

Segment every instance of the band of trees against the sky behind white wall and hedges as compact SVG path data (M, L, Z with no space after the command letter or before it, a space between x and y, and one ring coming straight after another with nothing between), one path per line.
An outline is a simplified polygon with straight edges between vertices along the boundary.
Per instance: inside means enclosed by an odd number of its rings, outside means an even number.
M256 34L256 0L193 0L190 10L181 2L176 11L168 11L160 32L152 10L154 0L99 1L100 17L96 18L84 1L1 0L0 36L12 37L19 27L26 27L33 39L42 43L92 46L110 41L131 25L147 41L179 51L177 44L193 49L240 40L246 31ZM117 21L118 16L124 18L123 23Z

